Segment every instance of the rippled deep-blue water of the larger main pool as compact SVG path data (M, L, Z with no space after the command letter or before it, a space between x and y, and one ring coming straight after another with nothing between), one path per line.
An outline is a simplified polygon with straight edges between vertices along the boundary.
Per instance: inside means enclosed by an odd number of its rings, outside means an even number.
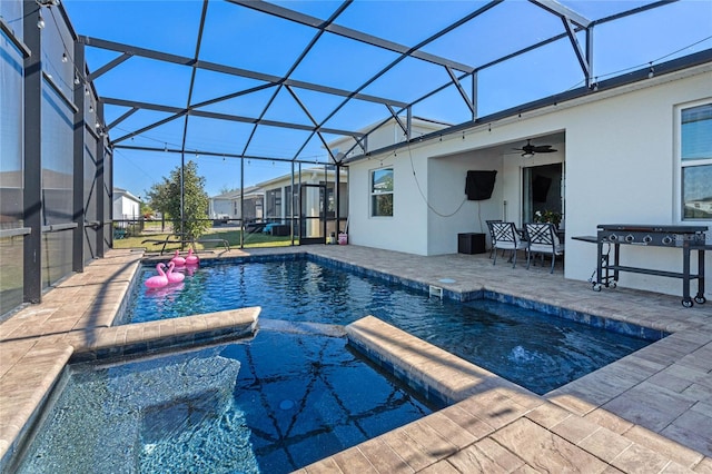
M245 306L261 306L260 319L332 325L373 315L540 395L650 344L493 300L442 300L304 259L204 265L159 292L137 285L126 322Z

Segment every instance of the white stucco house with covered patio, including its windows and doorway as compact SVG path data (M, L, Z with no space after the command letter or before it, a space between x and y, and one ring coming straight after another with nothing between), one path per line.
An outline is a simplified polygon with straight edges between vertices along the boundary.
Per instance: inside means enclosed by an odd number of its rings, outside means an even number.
M555 210L564 216L565 278L584 282L596 267L596 246L571 237L595 235L599 224L709 226L711 244L712 62L691 65L492 121L483 118L407 147L369 146L367 155L347 157L349 241L452 254L459 233L486 234L487 219L521 226L536 210ZM523 156L526 140L556 151ZM342 148L344 140L329 146ZM686 151L691 148L694 154ZM497 171L490 199L467 200L468 170ZM682 270L680 249L626 247L624 265ZM712 251L705 265L712 268ZM675 295L682 288L682 279L659 276L622 273L620 279Z

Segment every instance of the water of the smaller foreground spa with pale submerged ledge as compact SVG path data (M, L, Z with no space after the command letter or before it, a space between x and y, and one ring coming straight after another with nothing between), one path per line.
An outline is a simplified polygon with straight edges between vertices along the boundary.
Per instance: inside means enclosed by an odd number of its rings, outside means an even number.
M346 346L343 328L72 366L18 473L287 473L432 409Z

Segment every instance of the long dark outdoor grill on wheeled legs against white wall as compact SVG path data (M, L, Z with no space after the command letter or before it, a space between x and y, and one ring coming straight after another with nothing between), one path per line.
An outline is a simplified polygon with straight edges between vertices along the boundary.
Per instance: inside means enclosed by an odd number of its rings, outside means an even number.
M635 224L601 224L595 237L573 237L597 244L599 258L595 279L590 282L593 289L600 292L602 286L615 288L621 271L645 275L656 275L669 278L682 278L682 305L692 307L694 303L704 304L704 250L712 250L706 244L706 226L664 226ZM621 245L637 245L645 247L670 247L682 249L682 273L664 271L651 268L629 267L621 265ZM605 247L605 251L604 251ZM613 263L611 263L613 249ZM690 269L690 254L698 251L698 273ZM690 296L690 280L698 279L698 294Z

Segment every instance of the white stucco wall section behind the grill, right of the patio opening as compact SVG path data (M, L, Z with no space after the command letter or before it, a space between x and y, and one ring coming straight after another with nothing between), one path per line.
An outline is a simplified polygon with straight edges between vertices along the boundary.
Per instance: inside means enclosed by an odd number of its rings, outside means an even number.
M583 210L568 213L566 231L570 235L593 235L597 224L683 224L676 108L699 99L712 99L709 71L594 102L566 115L567 209ZM592 118L595 128L591 127ZM710 189L712 191L712 182ZM708 238L712 235L712 221L684 224L708 226ZM708 253L706 268L712 268L711 257ZM587 279L595 259L595 246L568 240L566 277ZM696 255L693 260L696 261ZM622 246L621 263L682 271L682 251ZM622 273L620 284L674 295L682 293L681 279L651 275ZM696 288L696 282L692 288Z

